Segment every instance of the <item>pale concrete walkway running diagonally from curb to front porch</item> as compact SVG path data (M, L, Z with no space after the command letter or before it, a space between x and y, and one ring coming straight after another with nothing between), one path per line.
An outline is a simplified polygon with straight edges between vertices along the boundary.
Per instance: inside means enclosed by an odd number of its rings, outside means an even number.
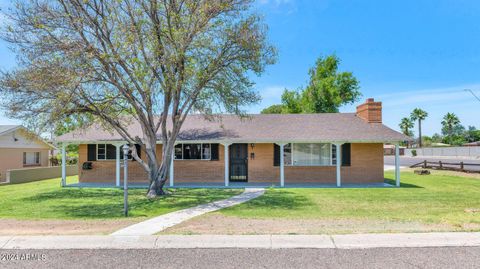
M187 209L175 211L172 213L168 213L165 215L161 215L161 216L134 224L132 226L128 226L121 230L118 230L112 233L112 235L121 235L121 236L153 235L169 227L177 225L188 219L203 215L205 213L247 202L251 199L254 199L263 195L264 192L265 192L265 189L263 188L245 189L245 191L240 195L233 196L225 200L203 204L203 205L195 206L192 208L187 208Z

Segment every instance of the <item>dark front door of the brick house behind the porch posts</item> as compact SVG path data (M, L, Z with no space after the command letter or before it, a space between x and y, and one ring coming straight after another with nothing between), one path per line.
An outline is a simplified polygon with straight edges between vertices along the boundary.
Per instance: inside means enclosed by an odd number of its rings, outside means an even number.
M230 146L230 181L248 181L248 144Z

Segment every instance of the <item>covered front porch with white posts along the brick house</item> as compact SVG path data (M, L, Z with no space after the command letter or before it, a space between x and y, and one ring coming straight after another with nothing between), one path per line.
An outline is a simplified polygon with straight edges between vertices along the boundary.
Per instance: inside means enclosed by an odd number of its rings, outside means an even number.
M110 142L110 144L105 142L84 144L81 147L83 151L80 151L79 159L82 168L79 171L80 182L66 184L62 166L62 185L80 188L123 188L122 170L125 169L123 163L126 161L129 186L147 188L148 180L138 163L129 159L123 160L120 154L122 145L124 142L119 141ZM295 147L297 145L299 146ZM348 154L345 154L347 164L343 162L344 145L348 145ZM383 144L381 143L190 142L182 144L179 142L177 146L172 152L175 159L170 162L165 185L167 188L391 187L390 184L383 183ZM161 152L161 145L157 147ZM64 159L65 145L62 150L62 159ZM309 160L305 156L300 158L300 153L303 154L305 150L311 150L307 153L316 159ZM396 182L394 185L398 187L400 186L398 145L395 153ZM89 164L86 170L84 170L85 164Z

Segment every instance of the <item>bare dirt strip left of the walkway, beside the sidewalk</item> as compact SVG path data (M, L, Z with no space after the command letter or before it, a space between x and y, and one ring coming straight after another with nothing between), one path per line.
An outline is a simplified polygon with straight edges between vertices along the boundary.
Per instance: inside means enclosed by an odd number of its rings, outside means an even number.
M0 235L109 234L141 220L16 220L0 219Z

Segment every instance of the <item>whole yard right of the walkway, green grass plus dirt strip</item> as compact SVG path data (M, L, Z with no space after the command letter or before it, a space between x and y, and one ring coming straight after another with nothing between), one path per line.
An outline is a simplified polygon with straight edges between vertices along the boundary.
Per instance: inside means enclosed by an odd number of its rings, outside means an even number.
M386 180L393 183L393 172ZM402 188L269 189L255 200L198 217L169 233L479 231L480 178L402 172Z

